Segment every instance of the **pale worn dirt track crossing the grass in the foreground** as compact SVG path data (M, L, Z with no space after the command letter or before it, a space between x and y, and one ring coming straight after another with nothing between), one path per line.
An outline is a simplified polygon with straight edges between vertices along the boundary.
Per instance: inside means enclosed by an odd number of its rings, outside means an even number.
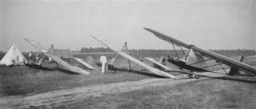
M209 73L205 73L209 75ZM218 73L210 73L214 77L225 76ZM205 79L205 78L201 78ZM127 81L110 83L107 85L93 85L73 89L54 90L29 96L4 96L0 98L1 108L28 108L29 106L59 106L71 104L90 96L102 96L110 93L138 90L145 87L173 86L181 82L195 81L198 79L144 79L140 81ZM200 79L199 79L200 80Z

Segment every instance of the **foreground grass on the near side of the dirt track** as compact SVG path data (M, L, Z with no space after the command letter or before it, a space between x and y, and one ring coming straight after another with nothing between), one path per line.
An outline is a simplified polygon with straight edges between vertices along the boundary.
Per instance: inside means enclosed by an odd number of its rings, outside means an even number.
M255 108L255 100L255 82L204 79L89 97L54 108Z

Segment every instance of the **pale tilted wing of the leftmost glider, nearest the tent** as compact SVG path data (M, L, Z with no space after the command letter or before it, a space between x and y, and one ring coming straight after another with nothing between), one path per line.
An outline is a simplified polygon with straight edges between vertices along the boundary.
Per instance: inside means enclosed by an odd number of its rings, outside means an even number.
M67 62L63 61L61 58L59 58L53 54L47 53L47 50L44 47L42 47L41 45L39 45L39 43L37 43L36 41L26 39L26 38L25 38L25 40L28 41L28 43L30 45L34 46L39 52L42 52L42 53L44 53L44 55L52 58L52 60L61 64L63 67L67 68L69 71L80 73L80 74L90 74L90 72L87 72L81 68L78 68L77 66L71 66Z

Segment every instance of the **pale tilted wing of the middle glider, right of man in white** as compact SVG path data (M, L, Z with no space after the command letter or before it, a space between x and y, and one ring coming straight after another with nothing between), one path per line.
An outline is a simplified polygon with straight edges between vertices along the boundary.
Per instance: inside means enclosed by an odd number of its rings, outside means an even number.
M113 48L113 47L110 47L106 42L102 41L102 40L99 40L98 38L94 37L94 36L91 36L92 38L94 38L95 40L99 41L101 44L105 45L106 47L110 48L112 51L116 52L118 55L121 55L125 58L127 58L128 60L134 62L135 64L138 64L140 66L142 66L142 68L145 68L147 70L149 70L150 72L154 73L154 74L157 74L158 76L163 76L163 77L166 77L166 78L172 78L172 79L175 79L176 77L173 76L172 74L169 74L167 72L164 72L164 71L161 71L159 69L156 69L156 68L152 68L151 66L137 60L136 58L126 54L125 52L123 51L119 51L118 49L116 48Z

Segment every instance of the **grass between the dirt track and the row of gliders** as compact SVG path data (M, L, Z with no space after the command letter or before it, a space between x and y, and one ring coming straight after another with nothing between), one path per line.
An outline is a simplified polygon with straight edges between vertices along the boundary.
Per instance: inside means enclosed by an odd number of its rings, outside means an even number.
M26 66L1 68L0 72L0 96L38 94L57 89L154 78L154 75L150 76L143 72L138 74L136 72L117 71L116 73L109 72L102 76L100 71L96 70L90 71L91 74L86 76L60 71L33 71L28 70Z

